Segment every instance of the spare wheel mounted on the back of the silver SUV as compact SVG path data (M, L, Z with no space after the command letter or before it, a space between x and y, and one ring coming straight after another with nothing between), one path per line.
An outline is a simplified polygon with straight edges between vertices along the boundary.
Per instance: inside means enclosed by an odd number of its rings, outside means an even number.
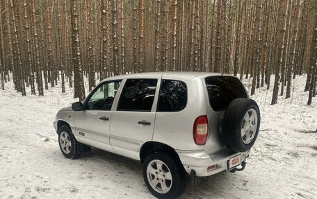
M249 150L259 134L260 118L259 106L252 99L231 101L222 121L223 143L237 152Z

